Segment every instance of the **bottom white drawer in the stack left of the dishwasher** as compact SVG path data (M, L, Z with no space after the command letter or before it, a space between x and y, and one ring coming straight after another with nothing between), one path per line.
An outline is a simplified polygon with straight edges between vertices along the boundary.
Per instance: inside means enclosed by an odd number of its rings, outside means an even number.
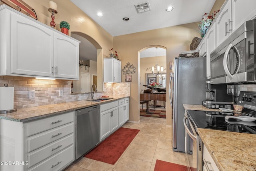
M74 153L74 145L72 145L28 171L57 171L64 169L74 161Z

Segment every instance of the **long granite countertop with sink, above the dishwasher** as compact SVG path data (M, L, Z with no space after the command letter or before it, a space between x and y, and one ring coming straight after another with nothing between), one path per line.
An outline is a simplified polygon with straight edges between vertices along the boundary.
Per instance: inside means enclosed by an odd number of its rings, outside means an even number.
M112 99L108 99L104 101L88 101L90 99L86 99L86 100L80 100L80 101L58 103L53 105L28 107L23 109L17 109L16 112L12 112L12 113L0 114L0 119L7 119L7 120L17 121L17 122L30 121L33 119L56 115L56 114L67 112L67 111L82 109L84 107L90 107L90 106L94 106L102 103L108 103L110 101L115 101L118 99L122 99L124 97L130 97L130 96L113 96L113 97L109 97Z

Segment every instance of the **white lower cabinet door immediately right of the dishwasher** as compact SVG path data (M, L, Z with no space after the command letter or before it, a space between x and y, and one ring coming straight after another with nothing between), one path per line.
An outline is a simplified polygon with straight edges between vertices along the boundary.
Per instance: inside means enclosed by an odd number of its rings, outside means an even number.
M111 133L110 115L111 110L100 113L100 140L104 139Z

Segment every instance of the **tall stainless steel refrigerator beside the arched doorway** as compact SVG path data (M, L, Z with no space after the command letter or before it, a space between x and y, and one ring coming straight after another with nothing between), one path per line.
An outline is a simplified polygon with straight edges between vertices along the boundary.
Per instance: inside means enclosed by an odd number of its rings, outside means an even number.
M202 104L205 99L206 57L175 58L173 66L173 150L185 152L183 104Z

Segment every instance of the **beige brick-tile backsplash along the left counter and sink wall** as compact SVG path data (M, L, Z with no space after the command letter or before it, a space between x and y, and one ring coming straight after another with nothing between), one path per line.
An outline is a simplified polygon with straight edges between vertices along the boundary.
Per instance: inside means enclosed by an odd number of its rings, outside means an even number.
M90 93L70 94L70 80L38 80L30 77L0 76L0 86L14 87L14 108L26 108L56 103L90 99ZM59 90L63 96L59 96ZM29 99L29 91L35 90L35 98ZM102 95L130 95L130 83L104 83L103 92L94 93L94 98Z

